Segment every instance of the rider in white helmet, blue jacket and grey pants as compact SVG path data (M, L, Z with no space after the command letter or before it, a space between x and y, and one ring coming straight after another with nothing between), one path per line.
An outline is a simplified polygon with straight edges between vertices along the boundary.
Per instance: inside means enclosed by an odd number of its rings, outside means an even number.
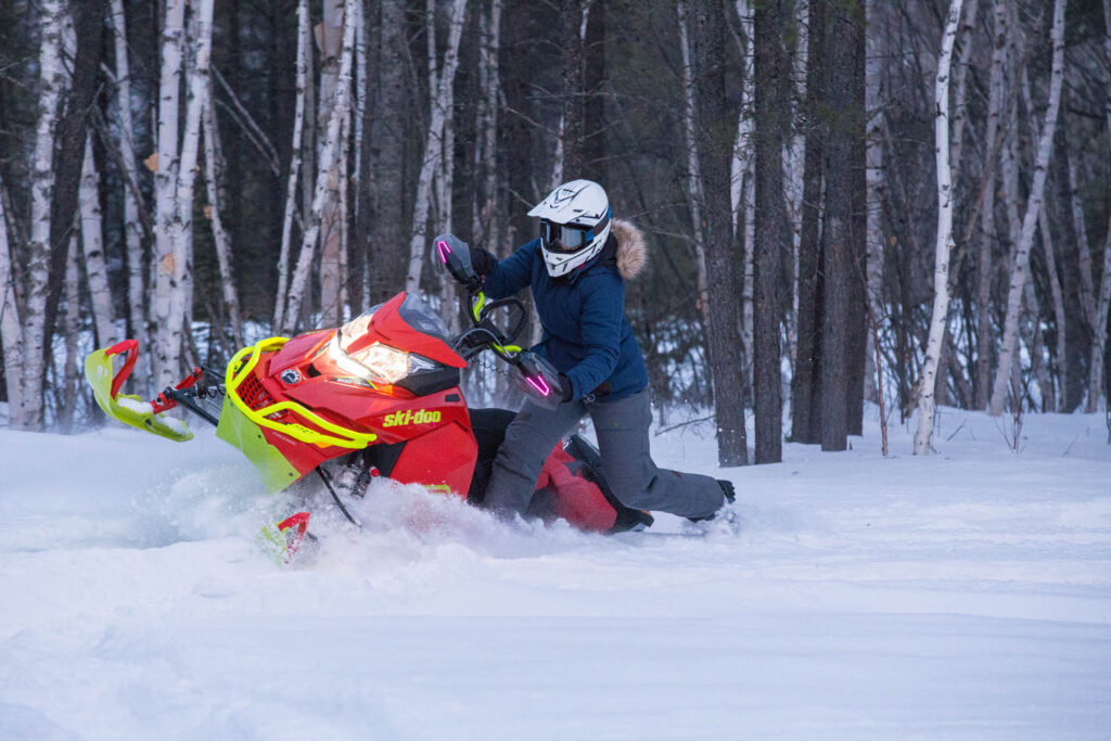
M529 216L540 219L539 239L501 262L472 249L471 263L488 298L532 289L543 328L532 350L560 371L563 401L554 410L524 402L498 449L487 505L503 517L523 513L544 459L589 413L602 474L622 504L712 518L733 501L732 483L657 468L649 451L648 373L624 317L624 281L648 259L644 236L611 221L605 191L589 180L563 183Z

